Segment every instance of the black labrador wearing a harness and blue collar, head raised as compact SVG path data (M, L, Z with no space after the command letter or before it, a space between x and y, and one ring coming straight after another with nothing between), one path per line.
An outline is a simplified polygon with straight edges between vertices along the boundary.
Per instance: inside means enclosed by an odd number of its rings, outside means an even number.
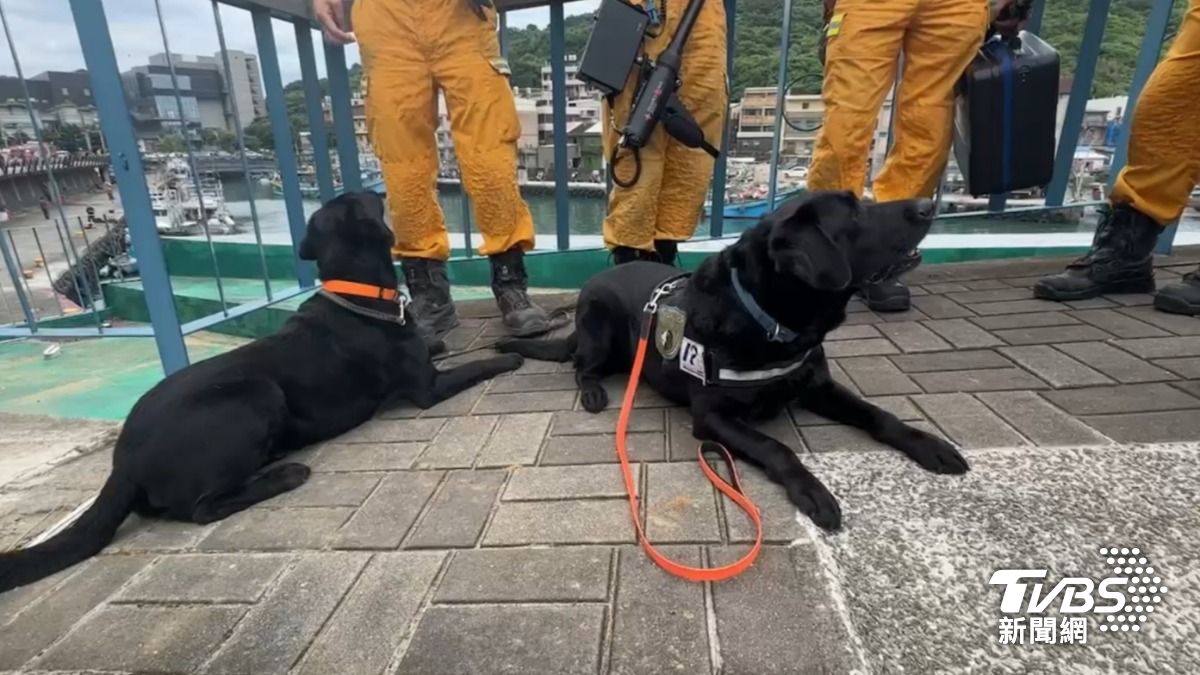
M697 438L762 467L797 508L836 530L841 510L834 496L791 448L750 422L794 401L866 431L929 471L967 471L952 444L834 382L821 346L845 321L857 288L916 265L932 216L929 199L868 204L848 192L814 193L769 214L690 279L650 262L605 270L580 292L574 334L508 340L498 348L574 358L583 407L598 412L608 404L601 378L630 371L654 297L643 383L690 407Z

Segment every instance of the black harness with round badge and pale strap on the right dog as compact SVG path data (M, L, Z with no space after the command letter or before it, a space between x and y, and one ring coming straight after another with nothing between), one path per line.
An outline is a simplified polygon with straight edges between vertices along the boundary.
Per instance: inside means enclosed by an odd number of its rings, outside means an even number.
M688 329L686 312L679 306L679 301L683 299L682 292L688 286L690 276L690 274L682 274L659 283L650 293L650 299L643 309L646 318L642 330L647 336L653 334L654 346L665 360L678 359L679 370L700 380L706 387L761 387L787 377L808 360L812 350L805 351L798 358L767 364L766 368L757 370L738 370L730 366L724 359L707 350ZM790 342L798 338L770 318L770 315L754 301L754 298L737 281L736 271L733 279L738 301L767 330L768 340ZM748 305L743 297L748 298L752 305Z

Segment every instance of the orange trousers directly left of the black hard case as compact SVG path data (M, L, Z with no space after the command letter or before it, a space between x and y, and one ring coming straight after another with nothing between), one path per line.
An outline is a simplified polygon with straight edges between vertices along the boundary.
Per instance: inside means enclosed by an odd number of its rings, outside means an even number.
M930 197L950 151L954 86L983 44L989 0L838 0L826 31L824 126L809 190L863 193L871 138L904 52L880 202Z

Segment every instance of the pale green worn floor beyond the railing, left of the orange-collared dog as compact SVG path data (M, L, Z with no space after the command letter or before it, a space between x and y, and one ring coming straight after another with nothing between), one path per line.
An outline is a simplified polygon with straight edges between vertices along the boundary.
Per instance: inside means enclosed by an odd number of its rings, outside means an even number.
M246 340L197 333L187 338L192 362L227 352ZM91 419L125 419L138 398L162 378L149 338L100 338L62 342L46 359L49 342L0 342L0 412Z

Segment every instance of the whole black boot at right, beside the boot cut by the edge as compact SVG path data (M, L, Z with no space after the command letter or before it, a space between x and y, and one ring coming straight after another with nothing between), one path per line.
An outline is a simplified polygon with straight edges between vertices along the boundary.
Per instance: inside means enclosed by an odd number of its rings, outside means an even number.
M1128 204L1100 207L1092 250L1043 276L1033 294L1046 300L1086 300L1105 293L1154 291L1154 243L1162 227Z

